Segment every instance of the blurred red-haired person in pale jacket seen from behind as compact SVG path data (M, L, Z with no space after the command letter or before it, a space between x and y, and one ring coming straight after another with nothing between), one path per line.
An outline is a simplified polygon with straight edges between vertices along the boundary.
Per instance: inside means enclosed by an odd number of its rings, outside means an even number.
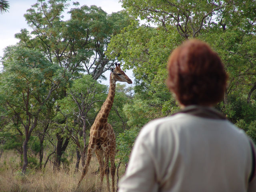
M253 142L213 108L227 78L205 42L187 40L171 53L166 84L181 110L142 128L119 192L256 191Z

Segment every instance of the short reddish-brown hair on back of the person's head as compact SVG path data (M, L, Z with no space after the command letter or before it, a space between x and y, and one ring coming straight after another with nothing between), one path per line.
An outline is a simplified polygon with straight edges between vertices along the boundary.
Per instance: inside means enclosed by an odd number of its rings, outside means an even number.
M200 40L187 40L168 60L168 88L185 106L213 105L222 100L227 74L218 54Z

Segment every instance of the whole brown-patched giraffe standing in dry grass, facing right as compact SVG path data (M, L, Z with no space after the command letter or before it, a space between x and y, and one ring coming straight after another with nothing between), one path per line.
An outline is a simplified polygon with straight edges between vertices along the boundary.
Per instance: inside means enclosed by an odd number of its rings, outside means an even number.
M88 145L87 152L87 160L84 165L82 176L78 182L78 187L82 182L84 176L88 172L88 166L90 164L90 160L92 158L92 154L95 152L96 157L100 164L100 191L102 189L102 182L104 174L106 174L108 192L110 192L110 184L109 184L109 170L108 170L108 161L110 158L111 164L111 177L112 177L112 192L115 191L115 152L116 152L116 136L114 134L114 130L112 126L107 122L108 115L112 104L114 102L115 90L116 90L116 82L127 82L128 84L132 84L132 80L128 78L128 76L121 70L120 64L116 64L116 68L110 68L110 87L108 96L103 103L100 112L96 116L94 123L90 129L90 139ZM105 156L105 164L104 158Z

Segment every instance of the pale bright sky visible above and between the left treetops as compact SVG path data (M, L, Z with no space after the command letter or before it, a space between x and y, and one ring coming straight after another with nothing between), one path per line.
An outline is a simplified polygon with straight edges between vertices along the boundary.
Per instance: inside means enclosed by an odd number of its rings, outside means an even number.
M21 29L31 28L27 25L27 22L24 18L24 14L26 10L31 8L33 4L36 4L37 0L9 0L10 8L8 12L4 12L0 14L0 57L3 56L3 49L6 46L14 45L18 42L18 40L14 37L16 33L19 33ZM112 12L118 12L122 10L122 4L119 0L68 0L66 3L70 5L73 2L79 2L80 6L87 5L96 5L101 7L102 10L111 14ZM67 10L70 10L69 7ZM65 19L65 18L64 18ZM132 79L132 72L126 72L126 74L130 74L130 78ZM106 74L106 77L109 76L109 73ZM133 79L132 79L133 80ZM107 80L108 83L109 80Z

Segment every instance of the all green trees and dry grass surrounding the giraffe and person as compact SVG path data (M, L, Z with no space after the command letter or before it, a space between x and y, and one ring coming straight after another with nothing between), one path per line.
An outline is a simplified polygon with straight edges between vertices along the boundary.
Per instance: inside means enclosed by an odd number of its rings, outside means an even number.
M256 2L120 2L124 10L107 14L38 0L24 14L30 29L21 29L19 43L1 58L0 191L75 189L90 126L108 93L104 72L116 62L135 78L132 87L117 85L108 118L120 179L142 126L179 109L165 85L166 62L189 38L208 42L222 58L229 83L216 108L256 142ZM92 164L91 172L98 168ZM95 177L88 174L81 188L95 191Z

